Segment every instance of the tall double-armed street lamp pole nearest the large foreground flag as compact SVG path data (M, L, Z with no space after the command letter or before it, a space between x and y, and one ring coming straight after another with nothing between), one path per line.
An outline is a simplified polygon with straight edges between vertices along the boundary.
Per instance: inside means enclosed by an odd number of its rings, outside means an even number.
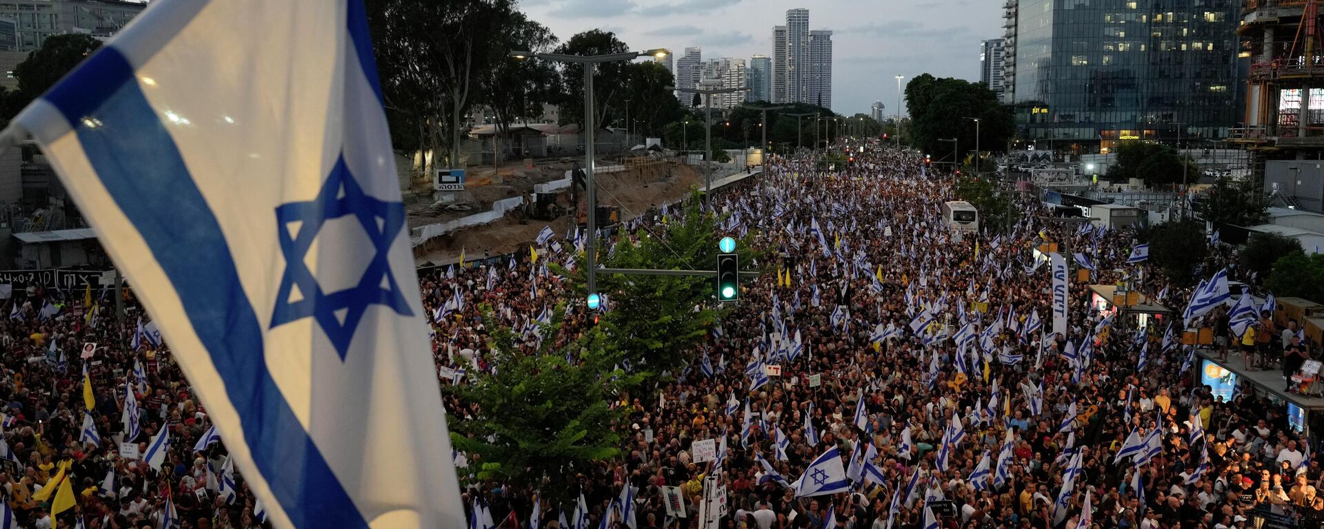
M633 61L639 56L666 57L666 53L667 52L661 48L646 52L622 52L601 56L571 56L565 53L532 52L510 53L510 57L518 60L536 57L543 61L575 63L584 67L584 213L587 216L587 226L584 227L584 231L588 231L588 238L584 241L584 254L587 261L585 266L588 267L585 276L588 278L587 294L589 296L597 294L597 189L593 181L593 132L597 126L593 124L593 66L604 62Z

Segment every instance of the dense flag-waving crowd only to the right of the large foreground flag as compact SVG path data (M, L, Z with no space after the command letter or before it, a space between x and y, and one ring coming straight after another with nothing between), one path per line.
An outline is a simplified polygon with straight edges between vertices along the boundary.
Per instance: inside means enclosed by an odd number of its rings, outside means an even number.
M1211 327L1219 344L1262 340L1253 348L1260 362L1286 358L1286 369L1309 357L1301 340L1279 337L1268 319L1234 335L1231 303L1182 321L1193 290L1147 262L1128 263L1133 229L1050 221L1026 197L1010 229L984 226L957 239L941 218L952 180L929 175L919 157L883 149L820 169L812 159L782 159L719 194L719 212L743 217L726 224L730 234L749 229L756 246L781 254L779 271L745 284L675 384L622 402L636 434L622 460L583 476L587 516L548 501L535 513L536 491L469 481L475 526L532 518L545 528L692 528L707 477L728 493L724 528L1313 528L1324 520L1317 443L1290 427L1280 399L1249 385L1215 398L1198 385L1200 358L1180 336ZM1050 266L1030 247L1068 239L1095 270L1090 282L1072 278L1067 332L1055 335ZM1197 276L1239 278L1234 261L1215 247ZM438 364L477 358L473 369L485 369L489 336L473 324L475 302L522 328L543 307L528 295L532 283L560 288L539 278L526 259L425 278L429 305L445 305L458 287L463 303L451 307L471 311L437 328ZM1140 320L1091 303L1090 283L1119 280L1172 312ZM584 317L572 308L568 327ZM753 374L773 364L780 376ZM463 403L448 402L455 406ZM708 439L719 440L718 462L695 462L696 442ZM814 488L797 479L814 477L825 454L846 467L849 492L797 497ZM685 517L669 516L671 487L685 496ZM634 509L622 509L630 497Z

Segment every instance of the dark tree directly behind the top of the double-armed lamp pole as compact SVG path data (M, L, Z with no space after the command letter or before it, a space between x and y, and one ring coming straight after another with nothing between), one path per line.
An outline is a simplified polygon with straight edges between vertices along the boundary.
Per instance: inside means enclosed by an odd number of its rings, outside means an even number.
M616 38L616 33L601 29L577 33L556 49L556 53L569 56L600 56L625 52L629 52L629 48L620 38ZM593 122L597 124L597 128L606 127L606 119L612 112L613 103L622 104L621 108L624 110L624 101L618 102L617 99L625 91L626 79L629 78L625 73L625 65L624 61L593 65ZM584 65L573 62L561 65L560 93L561 124L579 123L583 126Z

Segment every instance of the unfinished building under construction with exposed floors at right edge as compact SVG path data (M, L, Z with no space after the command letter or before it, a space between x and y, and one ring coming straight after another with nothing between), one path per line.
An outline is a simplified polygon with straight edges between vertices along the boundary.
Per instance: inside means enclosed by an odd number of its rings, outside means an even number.
M1238 36L1250 58L1243 126L1272 205L1324 209L1324 38L1319 0L1246 0Z

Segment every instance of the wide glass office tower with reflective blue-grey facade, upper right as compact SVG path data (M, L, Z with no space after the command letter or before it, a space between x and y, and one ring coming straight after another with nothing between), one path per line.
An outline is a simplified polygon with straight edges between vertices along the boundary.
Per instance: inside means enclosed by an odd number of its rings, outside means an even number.
M1241 0L1019 0L1016 108L1037 148L1213 147L1239 114Z

